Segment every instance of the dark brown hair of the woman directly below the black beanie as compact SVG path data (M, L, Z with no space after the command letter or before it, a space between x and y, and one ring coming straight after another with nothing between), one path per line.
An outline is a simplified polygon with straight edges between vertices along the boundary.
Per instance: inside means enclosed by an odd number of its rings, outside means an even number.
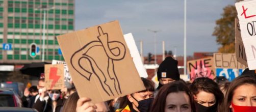
M194 98L189 88L181 81L173 81L164 85L158 92L157 97L153 101L150 111L164 111L166 97L169 93L185 92L189 96L191 110L196 111Z

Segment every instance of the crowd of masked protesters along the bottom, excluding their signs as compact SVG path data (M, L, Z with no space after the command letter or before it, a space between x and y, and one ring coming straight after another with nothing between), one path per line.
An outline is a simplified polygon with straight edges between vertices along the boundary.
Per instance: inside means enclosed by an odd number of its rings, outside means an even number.
M73 83L61 90L46 90L44 76L37 87L24 92L23 106L38 111L256 111L256 73L246 69L233 81L221 83L207 77L185 82L180 78L177 61L167 57L157 71L159 86L141 78L145 90L113 100L92 103L79 97ZM127 83L129 85L129 83Z

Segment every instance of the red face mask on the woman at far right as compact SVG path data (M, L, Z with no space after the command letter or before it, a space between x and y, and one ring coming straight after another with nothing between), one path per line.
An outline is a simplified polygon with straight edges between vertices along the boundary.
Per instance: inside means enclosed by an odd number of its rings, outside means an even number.
M256 106L238 106L235 105L233 102L231 102L232 108L234 109L234 112L255 112L256 111Z

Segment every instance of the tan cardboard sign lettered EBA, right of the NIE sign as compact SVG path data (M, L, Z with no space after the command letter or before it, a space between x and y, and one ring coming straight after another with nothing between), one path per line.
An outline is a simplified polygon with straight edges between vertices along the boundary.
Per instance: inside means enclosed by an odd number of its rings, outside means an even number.
M239 63L235 53L214 53L214 67L215 68L234 68L245 69L246 66Z

